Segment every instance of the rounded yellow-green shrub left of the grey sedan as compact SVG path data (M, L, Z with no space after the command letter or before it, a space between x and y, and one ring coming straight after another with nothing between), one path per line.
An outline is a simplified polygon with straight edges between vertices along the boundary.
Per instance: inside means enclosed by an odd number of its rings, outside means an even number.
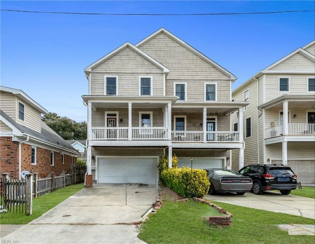
M165 169L160 177L168 188L182 197L204 197L210 187L205 170L188 167Z

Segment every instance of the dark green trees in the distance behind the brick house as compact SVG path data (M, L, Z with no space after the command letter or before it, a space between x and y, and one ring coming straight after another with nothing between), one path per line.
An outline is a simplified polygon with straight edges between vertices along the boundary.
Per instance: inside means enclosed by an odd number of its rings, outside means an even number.
M42 117L52 130L64 140L86 140L87 122L75 122L67 117L60 117L56 113L49 112Z

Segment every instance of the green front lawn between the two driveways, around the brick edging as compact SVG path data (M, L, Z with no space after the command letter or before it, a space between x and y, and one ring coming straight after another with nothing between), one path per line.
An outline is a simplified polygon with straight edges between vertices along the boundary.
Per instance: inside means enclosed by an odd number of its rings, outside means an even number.
M190 202L167 202L143 223L139 238L148 244L314 244L314 236L289 236L277 227L315 224L314 219L213 203L233 213L231 226L208 225L204 220L207 210Z

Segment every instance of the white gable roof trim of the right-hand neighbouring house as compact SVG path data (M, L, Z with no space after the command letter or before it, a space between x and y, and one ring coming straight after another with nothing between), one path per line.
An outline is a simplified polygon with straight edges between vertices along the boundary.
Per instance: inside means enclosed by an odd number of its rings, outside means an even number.
M262 74L267 74L267 73L279 73L280 70L270 70L271 68L275 67L276 65L278 65L279 63L289 59L290 57L292 57L293 55L299 53L301 54L302 56L304 56L305 58L315 62L315 56L312 55L311 53L307 52L304 50L304 48L307 48L309 46L311 46L312 44L314 44L315 40L310 42L309 44L307 44L306 46L304 46L303 48L298 48L296 49L295 51L289 53L288 55L284 56L284 58L274 62L273 64L269 65L268 67L264 68L263 70L259 71L258 73L256 73L255 75L253 75L250 79L248 79L247 81L245 81L243 84L241 84L239 87L237 87L236 89L234 89L232 91L232 93L234 92L237 92L239 90L241 90L242 88L244 88L248 83L250 83L252 80L254 79L257 79L257 77L261 76ZM286 72L286 73L289 73L290 71L289 70L281 70L281 72ZM306 72L306 70L302 71L302 72ZM310 70L308 72L313 72L314 73L314 70Z

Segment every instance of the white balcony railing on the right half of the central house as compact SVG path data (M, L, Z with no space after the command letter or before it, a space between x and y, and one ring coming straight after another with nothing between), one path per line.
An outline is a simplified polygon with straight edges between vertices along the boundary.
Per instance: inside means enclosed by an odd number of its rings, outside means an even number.
M205 142L238 142L238 131L207 131ZM203 131L172 131L173 142L204 142Z

